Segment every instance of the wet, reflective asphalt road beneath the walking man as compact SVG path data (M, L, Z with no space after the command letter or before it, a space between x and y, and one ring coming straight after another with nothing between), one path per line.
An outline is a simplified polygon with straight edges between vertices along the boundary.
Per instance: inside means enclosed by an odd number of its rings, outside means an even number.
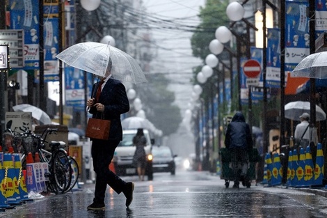
M224 180L208 172L154 173L153 181L135 182L134 201L107 189L106 210L88 211L94 185L73 193L46 196L0 217L327 217L327 198L295 189L255 186L225 188ZM230 187L232 187L232 182Z

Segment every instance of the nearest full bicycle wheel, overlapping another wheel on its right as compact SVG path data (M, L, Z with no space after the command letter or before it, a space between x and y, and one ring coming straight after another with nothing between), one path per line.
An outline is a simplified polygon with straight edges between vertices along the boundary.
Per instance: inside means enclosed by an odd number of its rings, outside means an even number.
M72 181L72 166L64 150L56 151L51 167L58 191L64 193Z

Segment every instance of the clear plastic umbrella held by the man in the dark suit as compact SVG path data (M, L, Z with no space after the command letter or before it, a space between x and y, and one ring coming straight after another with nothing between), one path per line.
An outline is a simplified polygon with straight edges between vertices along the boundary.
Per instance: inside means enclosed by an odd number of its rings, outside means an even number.
M147 81L137 61L122 50L99 42L81 42L59 53L56 58L74 68L134 84Z

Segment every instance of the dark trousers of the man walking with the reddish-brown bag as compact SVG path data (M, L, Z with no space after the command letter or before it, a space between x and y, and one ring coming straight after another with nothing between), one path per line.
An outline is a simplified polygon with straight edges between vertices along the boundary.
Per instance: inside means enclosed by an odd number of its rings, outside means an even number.
M109 164L113 159L113 153L119 141L104 141L93 139L91 154L93 158L93 169L95 171L95 201L103 202L106 194L106 185L120 194L125 188L126 182L115 175Z

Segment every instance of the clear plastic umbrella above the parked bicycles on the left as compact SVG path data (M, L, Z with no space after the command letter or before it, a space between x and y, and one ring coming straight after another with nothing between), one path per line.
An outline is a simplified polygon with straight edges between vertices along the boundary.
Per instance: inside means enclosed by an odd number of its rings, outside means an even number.
M17 104L13 107L14 111L22 111L22 112L31 112L32 117L35 118L35 120L40 121L41 123L47 125L51 124L51 119L45 111L42 111L40 108L35 107L31 104Z

